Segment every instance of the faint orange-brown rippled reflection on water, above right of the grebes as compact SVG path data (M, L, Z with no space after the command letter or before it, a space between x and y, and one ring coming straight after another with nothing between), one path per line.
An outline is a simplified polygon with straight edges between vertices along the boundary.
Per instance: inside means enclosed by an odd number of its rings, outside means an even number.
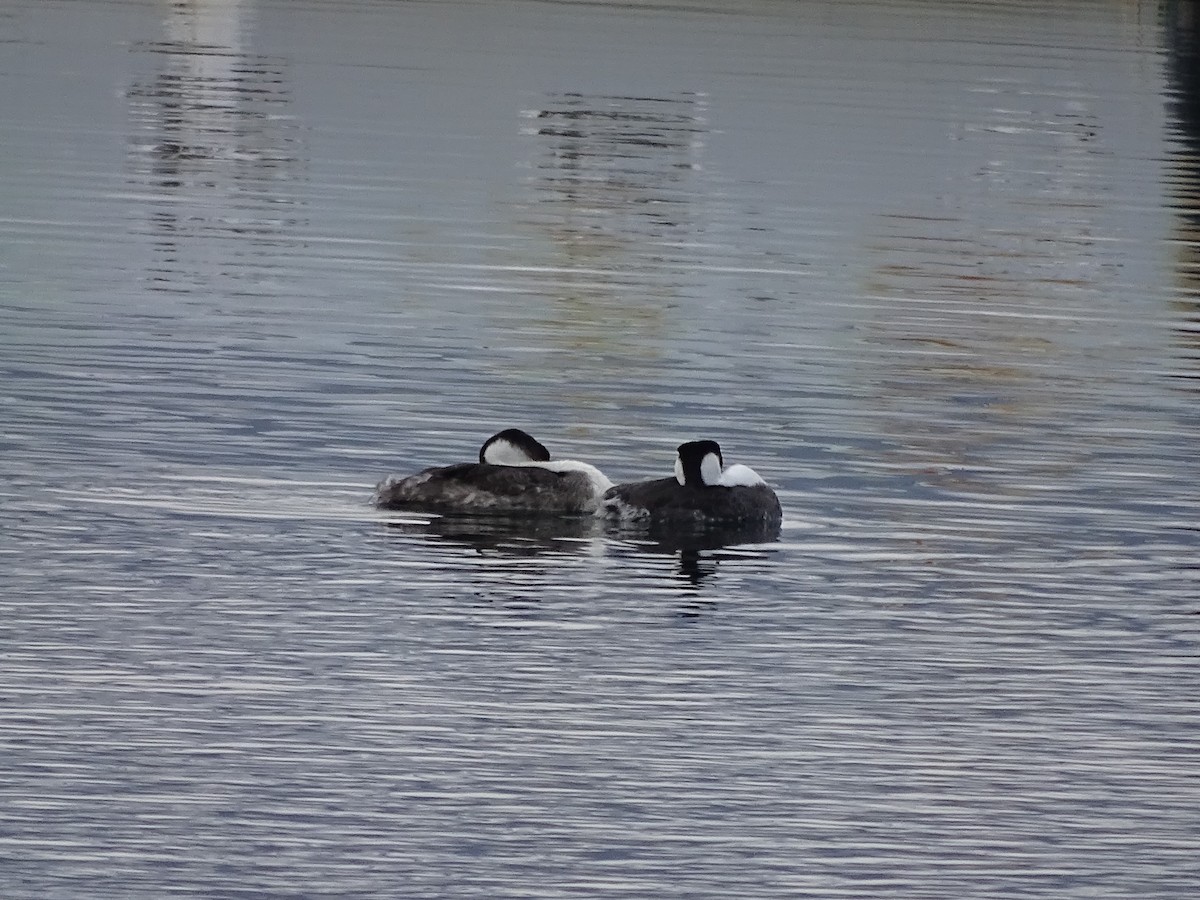
M997 469L1030 484L1078 469L1069 440L1050 452L1042 436L1090 433L1086 398L1106 377L1102 138L1086 95L1014 88L961 126L950 158L971 162L942 196L875 220L875 352L857 365L892 463L972 492L1010 491Z

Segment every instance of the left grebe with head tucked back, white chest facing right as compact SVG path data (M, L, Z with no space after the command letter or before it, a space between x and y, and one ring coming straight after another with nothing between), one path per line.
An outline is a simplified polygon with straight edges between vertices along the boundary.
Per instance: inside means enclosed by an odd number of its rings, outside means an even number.
M380 509L492 515L594 512L612 487L595 466L552 462L550 451L520 428L493 434L479 462L439 466L407 478L386 478L372 502Z

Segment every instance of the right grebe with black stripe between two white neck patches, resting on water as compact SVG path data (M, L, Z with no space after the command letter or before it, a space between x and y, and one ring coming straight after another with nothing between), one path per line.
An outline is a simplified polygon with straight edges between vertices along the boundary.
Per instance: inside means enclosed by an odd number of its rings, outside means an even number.
M779 497L749 466L725 468L715 440L679 445L674 478L610 488L602 512L622 522L732 524L782 520Z

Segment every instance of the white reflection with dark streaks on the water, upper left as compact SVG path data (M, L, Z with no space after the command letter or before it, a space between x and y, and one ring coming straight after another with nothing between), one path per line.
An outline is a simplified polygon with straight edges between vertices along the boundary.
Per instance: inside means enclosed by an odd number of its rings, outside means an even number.
M130 178L145 194L155 247L151 289L260 278L301 221L287 190L304 156L284 62L246 49L251 7L175 0L163 40L131 47L152 67L127 92Z

